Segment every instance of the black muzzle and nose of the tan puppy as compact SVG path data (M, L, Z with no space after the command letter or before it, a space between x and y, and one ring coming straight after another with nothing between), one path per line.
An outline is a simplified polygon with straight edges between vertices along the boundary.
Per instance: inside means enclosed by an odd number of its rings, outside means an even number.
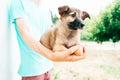
M68 26L70 29L77 30L82 29L84 24L79 19L75 19L73 22L70 22Z

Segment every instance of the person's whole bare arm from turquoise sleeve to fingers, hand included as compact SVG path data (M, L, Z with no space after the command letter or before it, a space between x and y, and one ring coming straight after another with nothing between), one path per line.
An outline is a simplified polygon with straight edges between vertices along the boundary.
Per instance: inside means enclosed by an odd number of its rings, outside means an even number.
M85 57L85 55L83 56L71 55L77 50L77 46L74 46L62 52L53 53L51 50L44 47L39 41L36 41L31 36L30 30L28 28L29 25L25 19L18 18L16 19L16 23L17 23L19 32L23 40L26 42L26 44L29 47L31 47L34 51L36 51L37 53L47 57L48 59L52 61L77 61Z

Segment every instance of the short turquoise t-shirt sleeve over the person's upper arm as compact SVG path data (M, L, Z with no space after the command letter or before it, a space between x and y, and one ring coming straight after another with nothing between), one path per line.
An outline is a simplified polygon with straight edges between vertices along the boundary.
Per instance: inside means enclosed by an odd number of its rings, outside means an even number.
M21 0L11 0L9 7L9 22L14 23L17 18L25 18L25 10Z

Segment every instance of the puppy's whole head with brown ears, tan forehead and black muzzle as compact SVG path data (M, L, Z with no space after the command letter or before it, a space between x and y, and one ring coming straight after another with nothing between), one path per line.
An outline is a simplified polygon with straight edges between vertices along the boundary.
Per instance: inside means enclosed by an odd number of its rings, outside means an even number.
M63 24L72 30L82 29L84 27L83 21L86 18L90 18L86 11L70 8L67 5L59 7L58 11Z

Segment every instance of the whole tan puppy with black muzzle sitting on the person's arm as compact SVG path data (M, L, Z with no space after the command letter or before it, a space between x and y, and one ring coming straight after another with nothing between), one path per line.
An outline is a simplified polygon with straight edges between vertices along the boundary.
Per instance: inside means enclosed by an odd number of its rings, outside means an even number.
M85 11L71 8L67 5L58 8L60 19L56 25L45 32L40 42L53 51L62 51L80 44L80 30L84 27L83 21L90 18ZM82 55L83 51L78 50L74 53Z

